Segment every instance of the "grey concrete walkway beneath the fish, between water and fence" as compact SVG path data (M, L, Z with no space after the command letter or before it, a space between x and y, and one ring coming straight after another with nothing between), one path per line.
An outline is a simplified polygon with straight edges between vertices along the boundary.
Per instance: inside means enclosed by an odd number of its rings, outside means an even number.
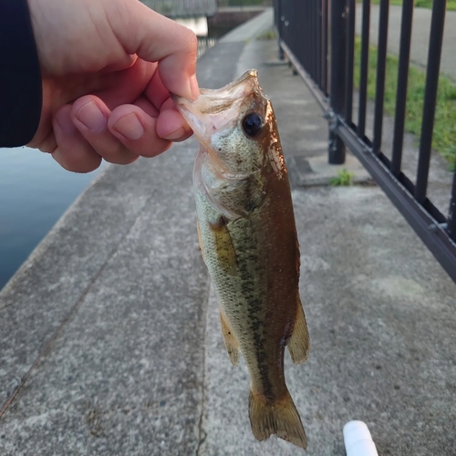
M255 29L252 26L252 29ZM326 153L326 121L274 41L219 43L202 87L247 67L285 159ZM304 454L254 440L244 363L225 353L194 226L195 140L109 166L0 295L0 454ZM344 455L365 420L381 455L456 455L456 285L375 186L293 192L309 361L286 378L308 454Z

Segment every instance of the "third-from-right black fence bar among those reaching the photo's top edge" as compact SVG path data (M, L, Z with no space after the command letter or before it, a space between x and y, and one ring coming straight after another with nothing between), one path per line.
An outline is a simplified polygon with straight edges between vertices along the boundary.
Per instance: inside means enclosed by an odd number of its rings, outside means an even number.
M374 113L374 140L372 141L374 153L378 153L381 148L381 135L383 130L383 103L385 98L385 73L387 70L388 18L389 0L380 0L380 20L378 23L377 87L375 94Z

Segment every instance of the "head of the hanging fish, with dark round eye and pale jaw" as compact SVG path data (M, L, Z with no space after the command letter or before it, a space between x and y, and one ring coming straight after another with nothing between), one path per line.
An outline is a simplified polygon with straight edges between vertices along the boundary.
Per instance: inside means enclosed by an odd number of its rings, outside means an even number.
M274 111L256 70L223 88L202 89L195 101L173 99L218 173L243 176L271 161L275 170L283 164Z

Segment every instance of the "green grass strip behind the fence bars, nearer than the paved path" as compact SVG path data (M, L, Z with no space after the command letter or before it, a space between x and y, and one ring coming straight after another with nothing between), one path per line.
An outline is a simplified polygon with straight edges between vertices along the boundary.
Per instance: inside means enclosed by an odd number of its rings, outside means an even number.
M361 40L355 43L355 86L359 88ZM371 46L368 62L368 98L375 99L377 47ZM396 91L398 84L399 58L387 57L385 84L385 114L394 117L396 109ZM426 74L416 67L409 68L409 87L407 93L407 110L405 129L420 138L421 119L424 102ZM450 163L456 163L456 84L449 78L440 76L435 112L434 136L432 148Z

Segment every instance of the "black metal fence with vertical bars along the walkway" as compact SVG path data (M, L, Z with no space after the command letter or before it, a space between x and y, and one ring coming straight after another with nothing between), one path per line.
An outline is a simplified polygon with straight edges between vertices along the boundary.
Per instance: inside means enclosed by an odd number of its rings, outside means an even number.
M280 57L285 53L325 110L329 123L329 163L343 163L346 147L351 150L456 282L456 171L446 215L439 211L427 195L446 0L434 0L432 7L415 183L401 169L414 0L404 0L402 6L391 160L381 150L389 0L380 0L379 5L372 138L366 135L370 0L363 0L358 115L353 113L355 2L356 0L275 0L275 26L279 36ZM357 119L354 120L353 117Z

